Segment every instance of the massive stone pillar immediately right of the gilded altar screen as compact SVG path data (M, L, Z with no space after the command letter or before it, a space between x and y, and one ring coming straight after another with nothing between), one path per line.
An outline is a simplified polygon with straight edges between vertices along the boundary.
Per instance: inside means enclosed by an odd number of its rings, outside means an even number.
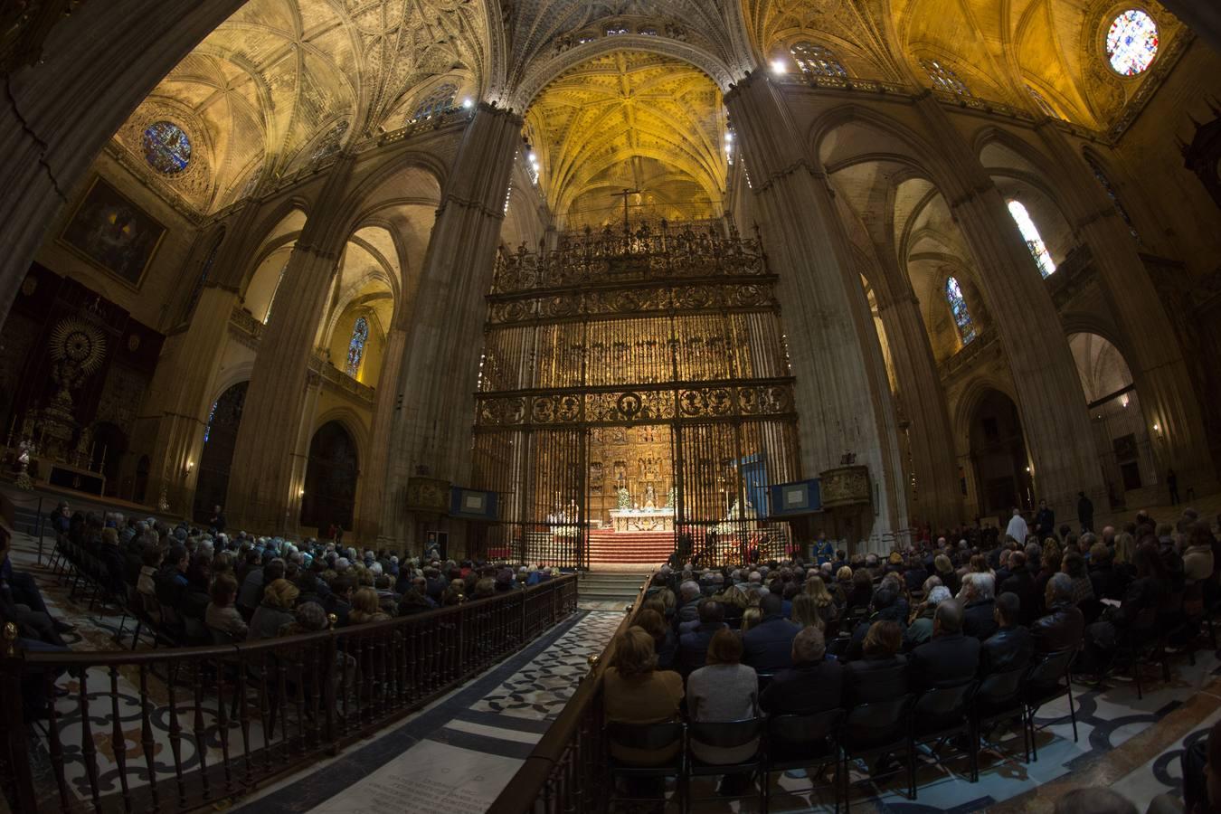
M855 453L874 484L873 547L906 526L902 465L890 386L864 290L827 173L810 155L779 89L757 70L725 95L779 277L796 377L807 477ZM875 517L873 515L877 515ZM853 541L855 542L855 541Z

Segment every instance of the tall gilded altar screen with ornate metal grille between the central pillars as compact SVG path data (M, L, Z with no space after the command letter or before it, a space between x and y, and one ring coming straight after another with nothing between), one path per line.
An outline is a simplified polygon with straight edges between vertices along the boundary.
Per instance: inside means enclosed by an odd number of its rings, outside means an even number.
M779 544L767 486L801 474L774 286L757 239L719 223L502 253L475 416L490 546L586 565L591 531L670 532L706 559Z

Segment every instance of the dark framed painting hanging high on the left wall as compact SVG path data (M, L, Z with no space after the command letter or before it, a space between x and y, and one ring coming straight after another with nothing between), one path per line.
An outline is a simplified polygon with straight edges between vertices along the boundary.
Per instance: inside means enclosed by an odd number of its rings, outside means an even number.
M165 227L98 176L72 212L60 243L84 260L139 288Z

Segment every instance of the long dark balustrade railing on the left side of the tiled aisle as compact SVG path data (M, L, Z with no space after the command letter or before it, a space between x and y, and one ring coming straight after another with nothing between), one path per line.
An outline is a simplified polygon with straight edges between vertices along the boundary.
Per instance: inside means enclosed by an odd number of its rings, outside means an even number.
M0 781L20 812L222 808L420 709L575 609L576 577L560 576L414 616L214 647L23 650L7 626ZM63 674L68 696L56 701ZM23 699L39 694L54 702L49 715L27 721Z

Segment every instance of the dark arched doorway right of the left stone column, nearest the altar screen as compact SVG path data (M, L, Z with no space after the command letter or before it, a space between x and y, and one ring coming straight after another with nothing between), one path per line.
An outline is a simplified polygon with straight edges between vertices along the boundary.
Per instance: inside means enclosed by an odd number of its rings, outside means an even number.
M309 444L302 525L324 536L331 524L352 531L357 505L357 444L338 421L319 427Z

